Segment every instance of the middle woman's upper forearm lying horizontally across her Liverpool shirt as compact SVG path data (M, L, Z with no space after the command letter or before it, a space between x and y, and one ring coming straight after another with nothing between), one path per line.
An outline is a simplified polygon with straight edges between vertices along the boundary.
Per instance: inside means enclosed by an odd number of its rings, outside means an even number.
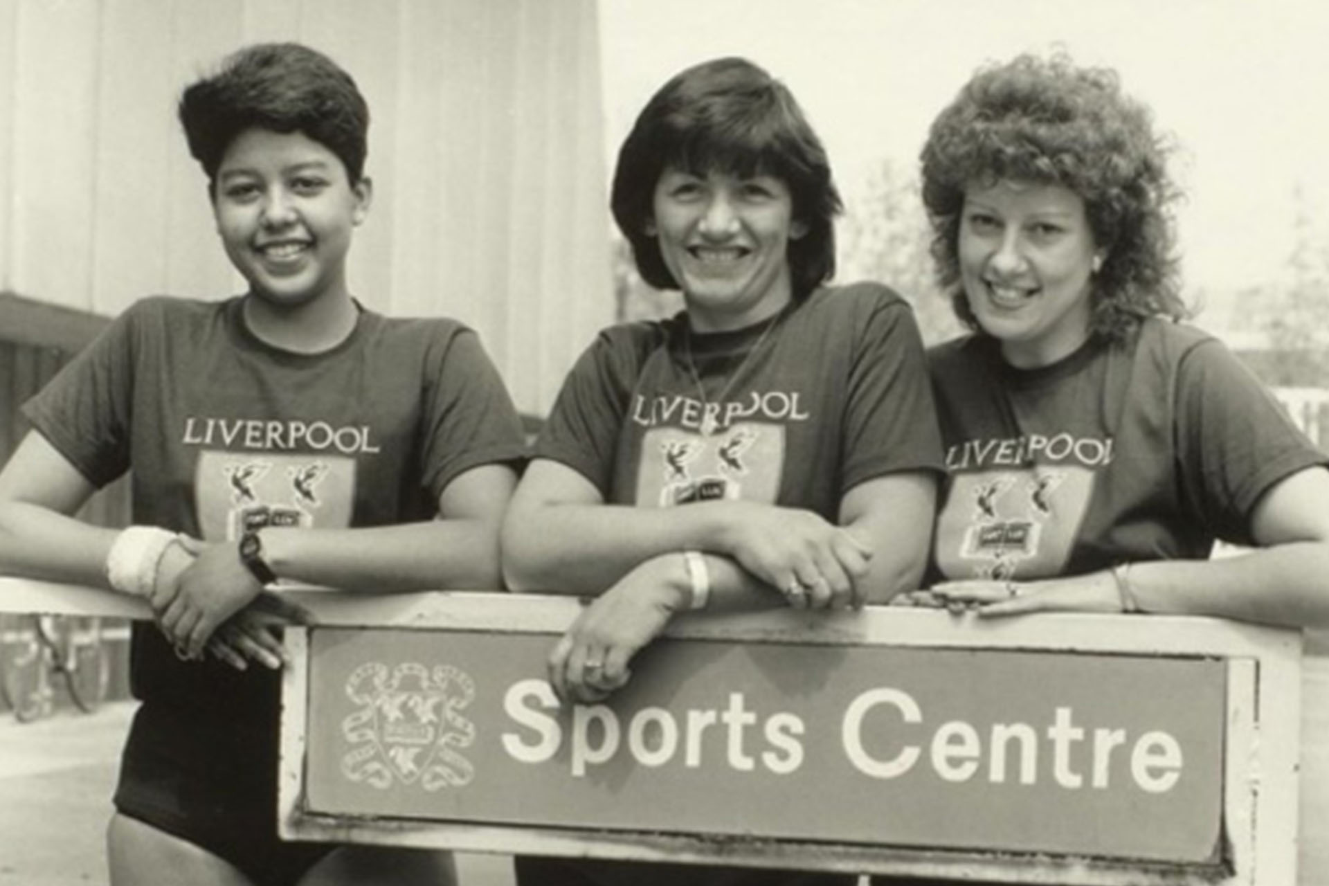
M542 505L509 514L504 573L514 591L598 594L645 561L687 549L718 551L726 507Z

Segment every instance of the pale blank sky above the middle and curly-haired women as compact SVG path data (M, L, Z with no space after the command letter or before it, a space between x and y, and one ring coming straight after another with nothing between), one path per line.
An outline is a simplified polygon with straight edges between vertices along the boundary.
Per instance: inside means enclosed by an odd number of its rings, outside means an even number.
M606 151L682 68L783 80L849 202L983 62L1066 49L1115 68L1176 143L1188 290L1285 279L1298 214L1329 246L1329 4L1318 0L599 0ZM1300 197L1298 197L1300 194Z

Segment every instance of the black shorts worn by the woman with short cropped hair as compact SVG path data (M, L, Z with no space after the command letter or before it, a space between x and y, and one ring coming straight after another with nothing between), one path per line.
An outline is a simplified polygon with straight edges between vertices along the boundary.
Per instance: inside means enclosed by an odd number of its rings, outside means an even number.
M121 760L116 809L238 867L291 886L336 849L276 836L276 724L242 729L145 703Z

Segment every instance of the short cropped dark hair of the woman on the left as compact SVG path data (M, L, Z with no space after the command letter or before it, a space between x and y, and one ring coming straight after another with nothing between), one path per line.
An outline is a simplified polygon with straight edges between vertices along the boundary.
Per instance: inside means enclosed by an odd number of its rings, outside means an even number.
M246 46L186 88L178 110L189 153L209 182L235 137L255 126L303 133L338 155L352 185L364 175L369 106L351 74L308 46Z

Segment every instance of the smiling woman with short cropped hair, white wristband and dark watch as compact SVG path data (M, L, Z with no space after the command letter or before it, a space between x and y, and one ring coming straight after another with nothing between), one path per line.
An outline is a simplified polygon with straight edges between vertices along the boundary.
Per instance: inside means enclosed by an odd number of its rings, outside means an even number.
M35 430L0 473L0 570L152 603L112 883L452 882L445 854L278 838L278 671L298 614L264 588L497 584L520 422L470 329L384 317L347 288L369 202L350 74L299 44L249 46L179 116L249 288L138 302L25 405ZM130 470L134 526L72 517Z

